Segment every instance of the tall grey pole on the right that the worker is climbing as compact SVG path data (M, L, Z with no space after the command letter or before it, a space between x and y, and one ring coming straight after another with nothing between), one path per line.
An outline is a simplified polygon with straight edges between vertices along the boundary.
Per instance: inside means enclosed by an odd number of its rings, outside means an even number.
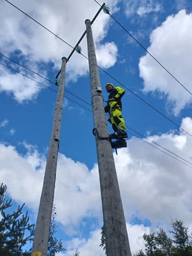
M93 33L89 19L86 19L86 35L88 44L88 63L90 69L94 125L99 133L99 136L107 137L108 128L104 112L104 101L99 81ZM111 143L106 139L99 139L97 134L95 138L97 145L97 160L99 165L99 180L102 194L106 255L131 256L128 234L126 230L126 221L122 206L122 198L119 191Z

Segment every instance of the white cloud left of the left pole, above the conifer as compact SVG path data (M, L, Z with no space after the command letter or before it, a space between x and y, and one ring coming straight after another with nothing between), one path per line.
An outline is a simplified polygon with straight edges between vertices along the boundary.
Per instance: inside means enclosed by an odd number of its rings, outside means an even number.
M37 210L44 170L35 171L31 164L32 157L37 162L37 155L25 158L19 155L15 147L0 144L1 182L8 186L7 191L12 199Z

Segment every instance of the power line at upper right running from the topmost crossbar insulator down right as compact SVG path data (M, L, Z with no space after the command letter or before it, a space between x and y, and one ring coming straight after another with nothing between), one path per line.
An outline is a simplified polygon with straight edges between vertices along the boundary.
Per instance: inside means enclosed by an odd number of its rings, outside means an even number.
M94 0L96 3L98 3L96 0ZM100 3L98 3L99 4L99 6L101 6L100 5ZM133 40L135 40L135 42L137 42L137 44L139 44L141 47L142 47L142 49L144 49L144 51L146 51L146 53L148 53L148 55L150 55L151 56L151 58L153 58L153 60L155 60L155 62L157 62L173 79L175 79L176 81L177 81L177 83L179 83L185 90L186 90L186 92L188 92L189 94L191 94L192 95L192 93L189 91L189 89L187 89L181 82L180 82L180 80L178 80L175 76L173 76L173 74L168 70L168 69L166 69L166 67L164 67L164 65L162 65L162 63L159 61L159 60L157 60L157 58L155 58L154 56L153 56L153 54L151 54L147 49L146 49L146 47L144 47L120 22L118 22L117 21L117 19L115 19L115 17L113 16L113 15L111 15L109 12L107 12L108 13L108 15L110 15L111 16L111 18L113 19L113 20L115 20L115 22L121 27L121 28L123 28L123 30L124 31L126 31L126 33L128 33L128 35L130 35L132 38L133 38Z

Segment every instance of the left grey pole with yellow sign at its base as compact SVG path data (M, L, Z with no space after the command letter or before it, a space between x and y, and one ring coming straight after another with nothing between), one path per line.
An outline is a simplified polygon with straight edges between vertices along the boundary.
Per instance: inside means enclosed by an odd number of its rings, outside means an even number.
M64 84L66 74L66 58L62 58L61 77L57 92L57 102L52 123L52 133L50 146L46 162L44 185L41 192L39 212L35 227L35 236L32 246L32 256L48 255L48 239L50 234L50 221L52 214L52 204L55 192L55 179L57 171L57 157L59 151L59 137L61 130L61 117L64 102Z

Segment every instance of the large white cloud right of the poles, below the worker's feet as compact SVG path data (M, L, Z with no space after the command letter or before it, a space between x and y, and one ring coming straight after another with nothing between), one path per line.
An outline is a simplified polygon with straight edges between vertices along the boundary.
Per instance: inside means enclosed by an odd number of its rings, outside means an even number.
M183 119L181 126L192 133L190 118ZM150 139L191 162L190 135L172 132ZM137 138L128 141L128 148L115 156L115 161L128 219L137 212L137 216L151 223L166 222L169 216L190 223L191 210L186 206L191 205L191 198L186 196L191 194L190 167L148 144L142 145Z

